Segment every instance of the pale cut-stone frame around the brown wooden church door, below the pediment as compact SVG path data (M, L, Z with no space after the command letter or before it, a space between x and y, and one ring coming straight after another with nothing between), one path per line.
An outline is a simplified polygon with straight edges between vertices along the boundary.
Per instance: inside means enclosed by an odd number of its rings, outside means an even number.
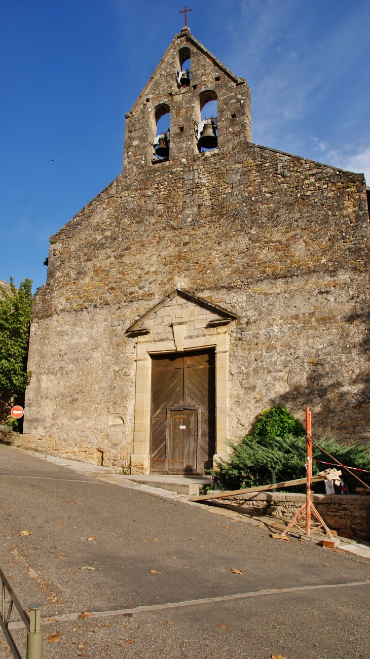
M216 366L216 453L213 459L228 455L228 414L229 414L229 351L230 336L225 327L215 328L215 333L198 337L184 338L184 352L202 348L215 348ZM148 335L138 336L136 343L136 384L134 451L131 455L131 473L150 473L150 432L151 432L151 355L176 353L176 343L172 340L153 341Z

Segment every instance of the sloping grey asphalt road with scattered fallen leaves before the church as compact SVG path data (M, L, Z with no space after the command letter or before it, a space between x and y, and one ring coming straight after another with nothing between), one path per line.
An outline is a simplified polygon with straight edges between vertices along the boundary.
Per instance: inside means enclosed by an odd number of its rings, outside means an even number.
M267 530L212 509L107 484L4 445L0 511L0 566L24 606L40 601L46 619L277 591L128 616L47 621L45 656L370 654L370 585L284 592L369 580L368 559L293 538L273 540ZM23 530L32 534L22 536ZM53 634L59 640L47 641ZM14 637L22 649L22 633ZM1 652L9 656L5 641Z

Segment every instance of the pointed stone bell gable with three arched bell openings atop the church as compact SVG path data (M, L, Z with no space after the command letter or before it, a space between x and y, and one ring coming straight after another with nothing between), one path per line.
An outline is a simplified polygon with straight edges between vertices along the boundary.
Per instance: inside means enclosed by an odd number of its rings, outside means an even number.
M217 116L202 119L217 101ZM160 120L169 115L169 130ZM250 89L191 34L176 34L131 111L126 113L124 175L199 157L228 154L251 142ZM133 169L134 168L134 169Z

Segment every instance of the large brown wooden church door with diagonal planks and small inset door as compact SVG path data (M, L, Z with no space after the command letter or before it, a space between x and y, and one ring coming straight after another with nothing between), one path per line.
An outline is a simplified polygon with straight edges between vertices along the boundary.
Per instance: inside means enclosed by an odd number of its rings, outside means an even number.
M205 473L215 453L215 351L152 360L151 473Z

